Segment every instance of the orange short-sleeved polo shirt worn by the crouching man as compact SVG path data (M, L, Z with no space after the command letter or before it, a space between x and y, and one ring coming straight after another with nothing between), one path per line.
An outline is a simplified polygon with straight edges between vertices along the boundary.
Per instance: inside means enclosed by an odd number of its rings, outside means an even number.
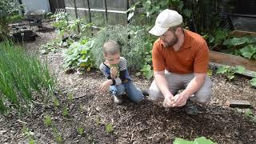
M168 70L175 74L204 74L208 69L209 48L204 38L190 30L184 30L185 39L182 47L162 46L160 38L154 42L152 62L154 71Z

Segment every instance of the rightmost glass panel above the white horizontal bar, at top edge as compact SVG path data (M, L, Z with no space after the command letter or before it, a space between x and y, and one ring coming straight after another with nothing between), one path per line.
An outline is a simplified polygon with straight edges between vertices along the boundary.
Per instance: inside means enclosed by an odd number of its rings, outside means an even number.
M127 10L127 0L106 0L107 10Z

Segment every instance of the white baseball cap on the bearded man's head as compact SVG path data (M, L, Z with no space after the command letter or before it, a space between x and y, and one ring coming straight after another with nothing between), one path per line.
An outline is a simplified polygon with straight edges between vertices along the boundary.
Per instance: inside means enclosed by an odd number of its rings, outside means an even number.
M158 14L154 27L149 31L149 33L160 36L164 34L170 27L178 26L180 24L182 24L181 14L178 14L178 12L175 10L162 10L162 12Z

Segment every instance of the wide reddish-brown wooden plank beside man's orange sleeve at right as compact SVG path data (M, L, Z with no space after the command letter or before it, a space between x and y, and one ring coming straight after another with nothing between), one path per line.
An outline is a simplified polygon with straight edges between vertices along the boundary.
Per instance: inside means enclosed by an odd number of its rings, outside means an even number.
M246 70L256 72L256 61L252 61L239 56L224 54L210 50L210 62L226 65L226 66L243 66Z

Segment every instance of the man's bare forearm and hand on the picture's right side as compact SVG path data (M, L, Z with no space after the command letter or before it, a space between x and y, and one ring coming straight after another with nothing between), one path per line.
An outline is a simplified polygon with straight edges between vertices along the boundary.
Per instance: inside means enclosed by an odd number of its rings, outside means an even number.
M202 85L205 83L206 74L194 74L194 78L190 81L186 89L182 91L181 94L175 95L174 106L184 106L186 100L192 96L196 91L198 91Z

